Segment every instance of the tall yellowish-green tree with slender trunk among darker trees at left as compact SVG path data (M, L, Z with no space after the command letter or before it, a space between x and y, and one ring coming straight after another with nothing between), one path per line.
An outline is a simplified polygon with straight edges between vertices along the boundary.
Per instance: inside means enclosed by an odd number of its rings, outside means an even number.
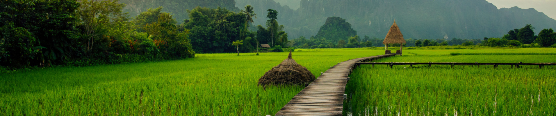
M81 3L78 9L79 16L82 20L82 25L85 28L85 35L87 36L87 51L91 51L95 45L95 37L99 36L97 33L98 27L102 24L109 23L114 19L126 17L127 13L122 13L122 8L125 4L120 4L120 0L78 0Z

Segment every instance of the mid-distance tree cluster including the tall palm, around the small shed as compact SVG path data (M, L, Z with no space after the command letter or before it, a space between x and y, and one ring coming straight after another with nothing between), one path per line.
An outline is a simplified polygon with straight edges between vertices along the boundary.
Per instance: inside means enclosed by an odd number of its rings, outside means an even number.
M276 21L278 12L267 11L266 26L256 26L256 32L249 29L252 18L257 15L250 5L237 13L220 7L196 7L188 10L190 19L185 19L183 25L191 29L189 38L197 53L256 52L260 44L285 47L289 41L287 33L282 31L284 26ZM235 41L241 41L239 48L231 44Z

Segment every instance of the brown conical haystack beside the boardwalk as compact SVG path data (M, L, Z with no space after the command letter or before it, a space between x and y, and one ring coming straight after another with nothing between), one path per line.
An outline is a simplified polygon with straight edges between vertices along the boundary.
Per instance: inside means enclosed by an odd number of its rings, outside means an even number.
M297 64L290 55L282 63L276 65L259 79L259 85L268 84L305 84L315 80L315 75L307 68Z

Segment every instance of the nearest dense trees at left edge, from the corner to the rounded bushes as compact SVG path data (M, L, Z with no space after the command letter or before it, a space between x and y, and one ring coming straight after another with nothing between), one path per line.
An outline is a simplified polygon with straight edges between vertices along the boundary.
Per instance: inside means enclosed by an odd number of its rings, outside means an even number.
M95 65L191 58L189 30L161 8L130 21L118 0L0 1L0 65Z

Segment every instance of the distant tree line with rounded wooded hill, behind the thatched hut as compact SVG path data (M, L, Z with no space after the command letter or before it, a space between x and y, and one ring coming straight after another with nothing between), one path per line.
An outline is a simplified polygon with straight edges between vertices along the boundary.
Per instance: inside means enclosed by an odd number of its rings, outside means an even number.
M346 23L339 17L329 17L317 36L309 39L301 36L293 39L290 46L299 48L358 48L358 47L384 47L384 39L365 36L361 39ZM489 47L556 47L556 33L553 29L543 29L535 35L535 28L530 24L509 31L503 38L483 39L406 39L405 47L428 47L428 46L489 46ZM349 36L348 36L349 35ZM332 39L330 39L332 38ZM399 46L392 44L389 46Z

